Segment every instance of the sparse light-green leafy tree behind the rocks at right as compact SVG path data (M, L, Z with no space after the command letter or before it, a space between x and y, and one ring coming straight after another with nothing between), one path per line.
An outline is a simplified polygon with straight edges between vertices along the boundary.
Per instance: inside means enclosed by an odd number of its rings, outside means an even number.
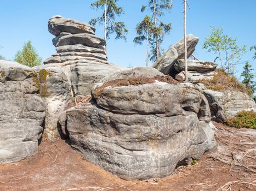
M241 56L246 52L246 46L238 46L236 39L223 34L223 28L212 27L211 34L203 43L203 49L214 52L220 60L220 68L234 75L235 65L240 64Z

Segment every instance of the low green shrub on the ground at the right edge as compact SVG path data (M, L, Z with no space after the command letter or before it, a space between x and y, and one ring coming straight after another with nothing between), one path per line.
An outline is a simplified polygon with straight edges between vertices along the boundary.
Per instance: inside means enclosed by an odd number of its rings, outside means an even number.
M256 128L256 112L241 111L234 118L225 122L227 126L237 128Z

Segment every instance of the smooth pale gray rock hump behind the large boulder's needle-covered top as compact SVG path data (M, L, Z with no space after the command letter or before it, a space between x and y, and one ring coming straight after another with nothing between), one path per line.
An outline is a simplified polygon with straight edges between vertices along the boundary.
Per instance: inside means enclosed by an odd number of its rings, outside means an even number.
M122 71L117 71L116 73L111 73L104 77L100 82L106 82L116 79L127 79L134 77L155 77L157 75L163 76L163 73L155 68L149 67L136 67L132 69L124 69Z

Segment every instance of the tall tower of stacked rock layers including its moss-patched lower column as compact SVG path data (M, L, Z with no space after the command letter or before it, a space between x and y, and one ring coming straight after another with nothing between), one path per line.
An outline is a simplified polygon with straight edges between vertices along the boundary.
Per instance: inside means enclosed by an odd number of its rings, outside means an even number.
M49 19L48 30L56 36L53 45L57 53L46 59L44 66L33 69L47 105L45 138L53 140L59 136L58 116L69 100L90 95L101 79L124 68L106 61L105 40L97 37L95 28L87 23L54 16Z

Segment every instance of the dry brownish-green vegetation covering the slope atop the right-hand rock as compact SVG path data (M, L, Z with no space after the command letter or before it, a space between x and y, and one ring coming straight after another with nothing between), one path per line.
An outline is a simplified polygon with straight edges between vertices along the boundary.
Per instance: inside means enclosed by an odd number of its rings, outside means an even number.
M241 91L252 96L251 89L239 82L235 76L227 74L224 69L217 69L217 74L214 75L211 80L198 80L198 82L203 83L207 89L212 89L215 91Z

